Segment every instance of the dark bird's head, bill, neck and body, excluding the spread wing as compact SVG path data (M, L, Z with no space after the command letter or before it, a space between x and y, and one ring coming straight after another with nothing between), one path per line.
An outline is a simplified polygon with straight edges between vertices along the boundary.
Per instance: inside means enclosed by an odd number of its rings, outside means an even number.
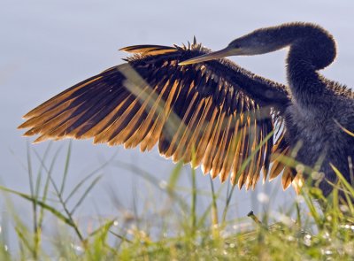
M354 159L354 137L348 134L348 130L354 130L354 94L319 74L319 70L335 60L332 35L308 23L266 27L235 39L224 50L189 59L181 65L264 54L284 47L289 47L286 60L289 101L282 104L280 111L286 132L284 140L289 151L296 150L293 157L297 162L324 174L319 188L327 196L333 188L331 183L337 180L331 165L351 183Z

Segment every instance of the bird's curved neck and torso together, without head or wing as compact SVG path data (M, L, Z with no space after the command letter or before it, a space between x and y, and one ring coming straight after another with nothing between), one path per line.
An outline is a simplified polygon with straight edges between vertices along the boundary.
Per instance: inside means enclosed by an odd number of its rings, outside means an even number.
M326 180L320 182L319 188L327 196L332 190L327 181L335 183L337 179L330 164L350 180L348 157L354 158L354 139L341 126L354 130L354 96L347 88L318 73L335 59L332 35L309 24L298 24L294 30L297 37L289 42L287 58L292 98L284 113L287 140L290 148L299 144L298 162L325 173Z

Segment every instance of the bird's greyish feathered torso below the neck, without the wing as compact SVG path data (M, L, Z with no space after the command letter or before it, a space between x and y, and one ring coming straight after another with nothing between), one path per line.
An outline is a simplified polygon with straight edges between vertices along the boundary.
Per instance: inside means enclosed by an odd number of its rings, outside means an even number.
M332 87L342 88L334 82L326 83L326 87L333 84ZM332 88L328 89L326 96L316 98L317 104L307 107L294 102L284 112L289 146L300 146L296 160L312 168L317 163L318 171L326 173L326 179L332 183L335 183L337 177L330 163L341 173L348 174L347 178L350 180L348 157L354 158L353 137L338 125L339 123L348 130L354 130L354 100L350 96ZM325 195L332 190L332 186L326 181L321 182L320 188Z

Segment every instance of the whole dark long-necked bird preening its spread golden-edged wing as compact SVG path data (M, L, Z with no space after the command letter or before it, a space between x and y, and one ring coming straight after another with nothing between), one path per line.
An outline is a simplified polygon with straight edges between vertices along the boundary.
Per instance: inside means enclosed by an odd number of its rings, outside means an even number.
M289 47L289 87L242 69L224 57ZM325 195L335 165L350 180L354 157L354 95L318 73L335 59L335 41L323 28L291 23L258 29L211 52L197 44L136 45L126 64L68 88L29 111L25 135L87 139L158 150L173 161L202 165L239 188L254 188L261 171L282 175L283 188L306 167L324 173ZM215 60L217 59L217 60ZM286 165L294 157L301 165ZM273 162L269 171L269 165ZM298 177L299 175L297 175Z

